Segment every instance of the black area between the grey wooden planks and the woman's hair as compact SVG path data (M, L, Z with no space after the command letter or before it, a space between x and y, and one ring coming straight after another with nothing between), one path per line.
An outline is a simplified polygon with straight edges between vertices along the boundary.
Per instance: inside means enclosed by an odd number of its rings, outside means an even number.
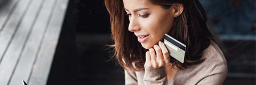
M97 8L94 3L96 1L69 1L47 84L124 84L122 68L110 60L110 49L104 50L112 43L109 16L106 11L106 18L101 16L97 11L105 6ZM84 5L93 9L86 9ZM85 10L97 11L88 14ZM93 18L101 21L90 22ZM98 23L105 24L95 27Z

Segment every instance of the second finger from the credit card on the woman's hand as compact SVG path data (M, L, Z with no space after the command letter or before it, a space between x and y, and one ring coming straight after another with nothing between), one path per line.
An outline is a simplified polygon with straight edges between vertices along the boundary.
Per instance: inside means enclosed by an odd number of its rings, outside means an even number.
M159 67L163 66L165 62L161 48L158 45L154 45L154 49L156 52L156 62L158 63Z

